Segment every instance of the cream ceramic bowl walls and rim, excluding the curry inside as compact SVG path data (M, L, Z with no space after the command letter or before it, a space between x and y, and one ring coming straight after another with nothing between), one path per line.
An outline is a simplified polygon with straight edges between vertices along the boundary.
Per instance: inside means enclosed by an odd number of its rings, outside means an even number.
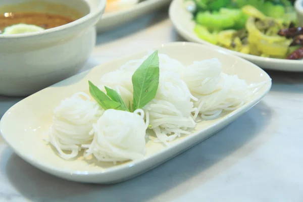
M75 74L84 65L95 45L94 25L102 16L106 0L44 0L43 4L32 4L29 0L2 0L12 11L52 12L63 4L82 14L78 20L47 29L25 34L0 34L0 94L24 96ZM25 4L25 5L24 5ZM30 6L29 6L30 5ZM12 8L9 8L12 9ZM54 10L52 10L54 9ZM58 9L58 7L57 7ZM62 9L61 9L62 11ZM8 10L8 12L11 12ZM60 12L60 10L55 13ZM72 11L64 9L64 15Z

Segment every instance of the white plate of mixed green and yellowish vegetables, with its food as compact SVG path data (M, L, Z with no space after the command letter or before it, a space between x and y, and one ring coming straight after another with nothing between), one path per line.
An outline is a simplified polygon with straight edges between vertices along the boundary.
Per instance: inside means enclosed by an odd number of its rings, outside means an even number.
M169 15L178 33L188 41L216 45L264 69L303 71L303 29L296 25L292 3L216 1L174 0Z

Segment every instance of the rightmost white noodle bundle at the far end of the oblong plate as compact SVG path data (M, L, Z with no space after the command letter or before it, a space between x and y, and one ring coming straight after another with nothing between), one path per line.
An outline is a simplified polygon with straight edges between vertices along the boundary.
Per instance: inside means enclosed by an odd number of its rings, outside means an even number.
M200 114L203 119L215 119L223 111L235 110L247 101L251 91L244 80L236 75L222 72L217 58L194 61L184 72L184 81L190 92L198 98L194 119Z

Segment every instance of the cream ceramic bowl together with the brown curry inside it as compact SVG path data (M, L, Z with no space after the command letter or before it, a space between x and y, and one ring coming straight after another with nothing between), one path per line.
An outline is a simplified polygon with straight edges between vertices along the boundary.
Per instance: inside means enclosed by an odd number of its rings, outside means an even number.
M83 67L106 0L0 3L0 94L26 96Z

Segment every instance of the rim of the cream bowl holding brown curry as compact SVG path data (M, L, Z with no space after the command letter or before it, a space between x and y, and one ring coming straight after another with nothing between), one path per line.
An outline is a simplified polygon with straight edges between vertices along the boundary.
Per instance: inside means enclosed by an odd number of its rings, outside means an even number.
M88 6L90 6L90 1L87 0L81 0L82 2L86 3ZM98 0L98 6L96 8L96 10L94 12L91 11L91 9L89 10L89 13L71 23L65 24L65 25L61 25L58 27L54 27L51 29L46 29L43 31L38 31L38 32L29 32L29 33L22 33L22 34L0 34L0 39L18 39L18 38L26 38L26 37L32 37L32 36L41 36L44 34L49 34L52 32L57 32L60 30L65 30L71 27L74 27L76 25L82 24L86 21L89 21L93 18L98 17L98 15L102 12L104 12L104 9L106 7L106 3L107 0Z

